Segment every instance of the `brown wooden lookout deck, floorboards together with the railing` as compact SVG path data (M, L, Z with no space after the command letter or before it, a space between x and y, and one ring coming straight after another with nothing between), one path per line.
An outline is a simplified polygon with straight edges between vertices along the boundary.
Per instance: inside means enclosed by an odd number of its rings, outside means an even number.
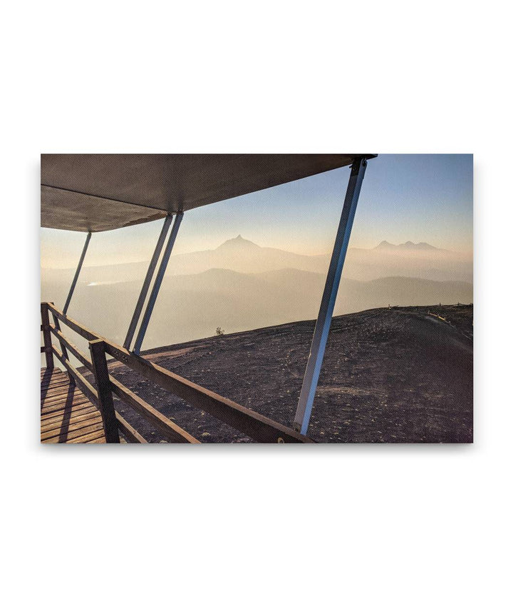
M49 320L50 313L53 324ZM60 322L88 341L90 358L63 335ZM148 443L116 411L118 400L158 428L167 442L199 443L193 435L110 375L108 364L112 365L113 361L123 363L151 383L180 397L191 408L208 412L254 441L312 443L296 430L100 338L73 318L68 318L53 303L41 303L41 333L41 353L46 358L46 369L41 370L41 443ZM52 335L58 340L61 350L53 345ZM86 378L71 363L71 356L93 374L94 380ZM67 373L55 368L54 357ZM70 376L76 385L70 384Z

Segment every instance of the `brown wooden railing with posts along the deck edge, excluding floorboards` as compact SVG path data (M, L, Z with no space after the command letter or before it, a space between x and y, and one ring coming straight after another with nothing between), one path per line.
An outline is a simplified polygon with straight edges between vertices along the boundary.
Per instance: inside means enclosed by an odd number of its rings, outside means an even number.
M49 320L49 313L53 318L53 325ZM78 350L65 335L63 335L59 321L71 330L81 335L89 343L90 358ZM46 355L46 366L53 368L53 357L66 368L72 383L86 395L91 403L100 410L105 430L105 439L108 443L119 443L119 433L130 443L146 443L122 416L115 411L113 395L133 408L136 413L155 426L167 441L172 443L199 443L190 433L180 428L172 420L166 418L157 409L152 407L138 395L135 395L125 385L113 378L108 371L106 355L113 357L128 368L140 373L151 382L159 385L170 393L185 400L194 408L199 408L218 420L227 423L233 428L248 435L261 443L309 443L311 440L295 430L274 422L270 418L260 415L253 410L244 408L238 403L202 388L180 375L172 373L165 368L151 363L142 356L135 355L119 345L111 343L97 333L84 327L73 318L68 318L53 303L41 303L41 331L44 345L41 353ZM53 335L61 347L58 350L52 344ZM73 366L68 358L69 352L90 370L95 378L96 388Z

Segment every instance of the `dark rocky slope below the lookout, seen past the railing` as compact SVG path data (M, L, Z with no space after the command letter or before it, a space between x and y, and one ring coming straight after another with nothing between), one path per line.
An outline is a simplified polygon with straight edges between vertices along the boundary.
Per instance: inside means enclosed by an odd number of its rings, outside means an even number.
M285 425L294 420L314 321L145 353ZM111 373L203 443L251 440L120 363ZM117 407L151 442L158 431ZM328 443L472 442L472 306L381 308L333 318L309 437Z

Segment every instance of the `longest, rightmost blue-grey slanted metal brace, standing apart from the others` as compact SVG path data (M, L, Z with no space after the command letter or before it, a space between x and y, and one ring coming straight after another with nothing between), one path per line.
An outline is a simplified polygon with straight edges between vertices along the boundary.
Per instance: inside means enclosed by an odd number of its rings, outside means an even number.
M335 308L338 286L340 284L343 263L346 259L349 238L353 221L360 196L363 176L365 176L367 161L366 158L360 157L353 161L351 166L351 176L349 177L348 188L346 191L346 199L344 200L341 220L338 225L338 231L333 246L333 254L326 276L326 285L321 300L321 307L317 317L317 322L312 338L310 355L301 386L301 394L294 418L294 428L300 430L302 435L306 435L309 427L312 406L317 389L319 374L324 358L324 350L326 350L326 342L328 341L328 333L331 326L331 318L333 317L333 308Z

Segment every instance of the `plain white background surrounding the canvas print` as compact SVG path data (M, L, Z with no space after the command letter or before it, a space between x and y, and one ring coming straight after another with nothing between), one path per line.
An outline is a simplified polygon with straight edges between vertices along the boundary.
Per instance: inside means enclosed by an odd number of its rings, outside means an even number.
M511 608L506 6L4 6L4 608ZM41 448L39 154L103 151L475 153L474 445Z

